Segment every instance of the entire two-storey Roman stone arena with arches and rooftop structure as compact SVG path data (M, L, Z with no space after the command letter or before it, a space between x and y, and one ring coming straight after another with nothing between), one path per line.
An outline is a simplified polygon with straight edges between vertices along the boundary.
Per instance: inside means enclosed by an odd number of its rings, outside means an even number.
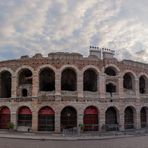
M148 64L114 51L49 53L0 62L0 129L140 129L148 123Z

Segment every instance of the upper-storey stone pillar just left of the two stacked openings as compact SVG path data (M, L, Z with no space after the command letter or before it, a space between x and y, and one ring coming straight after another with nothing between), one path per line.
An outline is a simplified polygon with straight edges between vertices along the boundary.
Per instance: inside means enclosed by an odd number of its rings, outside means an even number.
M98 80L98 83L99 83L99 96L100 98L105 98L105 93L106 93L106 90L105 90L105 84L106 84L106 81L105 81L105 74L104 73L100 73L99 75L99 80Z

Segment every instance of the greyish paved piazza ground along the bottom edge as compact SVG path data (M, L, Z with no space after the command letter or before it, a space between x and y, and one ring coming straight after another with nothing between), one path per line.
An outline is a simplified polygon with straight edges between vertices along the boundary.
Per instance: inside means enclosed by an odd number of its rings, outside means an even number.
M51 141L0 138L0 148L148 148L148 136L109 140Z

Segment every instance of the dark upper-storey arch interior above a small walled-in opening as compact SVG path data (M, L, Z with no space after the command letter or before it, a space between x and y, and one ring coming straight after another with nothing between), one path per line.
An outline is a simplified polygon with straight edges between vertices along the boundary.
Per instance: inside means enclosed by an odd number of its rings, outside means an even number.
M19 85L32 84L32 72L29 69L23 69L19 74Z

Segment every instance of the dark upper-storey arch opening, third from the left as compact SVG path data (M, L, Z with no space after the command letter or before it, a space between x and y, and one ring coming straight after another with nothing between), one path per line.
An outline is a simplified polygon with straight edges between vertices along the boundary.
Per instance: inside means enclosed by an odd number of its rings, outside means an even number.
M39 76L40 91L54 91L55 90L55 73L50 68L44 68Z

